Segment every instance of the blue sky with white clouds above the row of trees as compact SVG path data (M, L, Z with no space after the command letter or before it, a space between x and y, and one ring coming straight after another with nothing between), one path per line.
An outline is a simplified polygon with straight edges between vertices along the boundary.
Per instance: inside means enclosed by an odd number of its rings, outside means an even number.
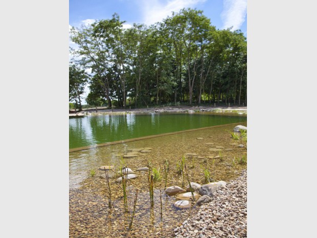
M80 27L95 20L111 18L115 12L124 27L133 23L151 25L170 16L172 11L182 8L196 8L211 19L217 29L240 29L246 35L246 0L70 0L70 27ZM70 42L71 47L76 46ZM86 87L83 97L89 92Z

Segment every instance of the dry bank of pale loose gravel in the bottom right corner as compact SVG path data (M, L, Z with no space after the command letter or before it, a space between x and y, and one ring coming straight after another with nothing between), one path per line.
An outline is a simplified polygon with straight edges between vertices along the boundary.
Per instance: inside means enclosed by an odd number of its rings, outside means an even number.
M246 237L246 171L218 188L213 201L174 229L176 237Z

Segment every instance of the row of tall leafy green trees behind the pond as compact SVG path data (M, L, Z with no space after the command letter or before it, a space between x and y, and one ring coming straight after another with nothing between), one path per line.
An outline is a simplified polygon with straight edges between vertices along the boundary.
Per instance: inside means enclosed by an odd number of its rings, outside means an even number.
M124 29L118 14L72 28L70 100L111 107L166 102L246 103L246 38L217 30L202 11L182 9L161 23ZM89 69L89 71L87 70ZM91 73L87 73L90 72Z

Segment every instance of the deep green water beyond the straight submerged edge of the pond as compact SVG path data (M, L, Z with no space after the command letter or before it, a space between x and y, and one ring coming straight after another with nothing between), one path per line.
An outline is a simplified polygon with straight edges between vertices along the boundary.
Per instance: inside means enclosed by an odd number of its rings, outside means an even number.
M244 122L244 116L210 114L98 115L69 119L69 147L101 144L188 129Z

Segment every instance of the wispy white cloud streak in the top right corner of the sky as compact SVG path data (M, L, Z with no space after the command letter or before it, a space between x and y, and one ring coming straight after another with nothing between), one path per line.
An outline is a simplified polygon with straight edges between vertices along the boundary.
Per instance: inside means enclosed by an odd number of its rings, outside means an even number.
M232 30L240 29L246 16L246 0L223 0L221 19L223 29L233 27Z

